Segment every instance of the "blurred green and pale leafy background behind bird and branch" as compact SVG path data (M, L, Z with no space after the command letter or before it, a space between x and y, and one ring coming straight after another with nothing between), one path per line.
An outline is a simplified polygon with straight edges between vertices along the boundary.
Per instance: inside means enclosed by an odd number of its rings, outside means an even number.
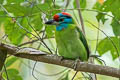
M85 25L86 39L91 53L100 55L100 59L104 60L107 66L119 68L120 0L79 0L79 2ZM51 19L54 14L62 11L70 13L81 28L76 0L0 0L0 41L19 47L32 47L49 52L32 35L34 34L38 38L39 36L42 37L55 54L55 26L46 26L44 22ZM108 37L114 42L117 50ZM36 41L31 44L21 45L33 40ZM37 62L34 69L35 63L35 61L8 55L6 69L9 79L71 80L75 73L74 70L42 62ZM104 66L97 59L95 59L95 64ZM84 74L88 77L86 73ZM2 77L7 80L4 68ZM118 80L117 78L103 75L97 75L97 79ZM89 79L84 78L79 72L75 80Z

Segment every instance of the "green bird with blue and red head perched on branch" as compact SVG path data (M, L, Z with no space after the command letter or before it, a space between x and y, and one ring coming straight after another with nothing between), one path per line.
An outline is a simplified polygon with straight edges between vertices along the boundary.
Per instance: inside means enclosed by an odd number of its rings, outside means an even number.
M89 48L86 38L69 13L55 14L53 19L45 24L56 25L55 40L60 56L67 59L88 60Z

